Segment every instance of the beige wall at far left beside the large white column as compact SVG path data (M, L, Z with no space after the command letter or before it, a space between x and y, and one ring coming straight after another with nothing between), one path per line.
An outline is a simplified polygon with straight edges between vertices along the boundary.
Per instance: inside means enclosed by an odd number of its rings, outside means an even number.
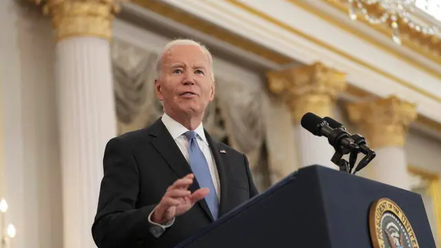
M62 247L61 177L50 21L0 1L3 164L14 247Z

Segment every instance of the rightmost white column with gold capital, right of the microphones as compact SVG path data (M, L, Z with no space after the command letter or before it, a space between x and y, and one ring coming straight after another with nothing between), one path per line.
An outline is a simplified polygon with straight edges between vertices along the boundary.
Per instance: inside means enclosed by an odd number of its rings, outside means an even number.
M402 189L410 188L404 152L407 128L416 119L416 106L390 96L347 106L349 120L360 127L376 158L362 174Z

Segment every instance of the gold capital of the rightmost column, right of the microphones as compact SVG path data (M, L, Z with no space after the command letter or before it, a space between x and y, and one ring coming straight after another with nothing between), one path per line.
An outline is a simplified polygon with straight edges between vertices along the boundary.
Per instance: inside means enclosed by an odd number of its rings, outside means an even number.
M417 118L416 105L396 96L347 105L349 120L360 125L372 147L402 147L409 125Z

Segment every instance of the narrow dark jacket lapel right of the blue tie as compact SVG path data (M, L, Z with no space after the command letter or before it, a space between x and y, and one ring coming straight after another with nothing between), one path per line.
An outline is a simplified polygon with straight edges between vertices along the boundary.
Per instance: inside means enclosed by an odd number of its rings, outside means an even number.
M220 154L218 143L216 143L216 141L214 141L213 138L209 136L206 130L205 136L207 137L209 147L212 150L214 161L216 162L216 167L218 169L220 184L220 203L218 217L220 217L225 214L223 209L225 209L225 205L227 204L227 169L225 168L225 164L223 163L223 156L225 156L225 154Z

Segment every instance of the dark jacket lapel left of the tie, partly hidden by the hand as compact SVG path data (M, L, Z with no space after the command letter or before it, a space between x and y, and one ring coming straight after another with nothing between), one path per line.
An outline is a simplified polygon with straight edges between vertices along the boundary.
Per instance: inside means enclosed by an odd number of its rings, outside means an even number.
M150 128L150 135L156 137L152 138L152 145L156 151L161 154L167 165L169 165L176 173L178 178L183 178L184 176L187 176L187 174L192 173L192 168L185 160L185 157L183 156L178 145L176 145L174 142L170 132L167 130L167 127L165 127L164 123L161 121L161 118L159 118L158 121L156 121ZM191 192L195 192L200 188L201 187L199 186L197 180L194 180L194 183L189 186L189 190ZM205 199L199 200L197 205L202 207L210 220L214 220Z

